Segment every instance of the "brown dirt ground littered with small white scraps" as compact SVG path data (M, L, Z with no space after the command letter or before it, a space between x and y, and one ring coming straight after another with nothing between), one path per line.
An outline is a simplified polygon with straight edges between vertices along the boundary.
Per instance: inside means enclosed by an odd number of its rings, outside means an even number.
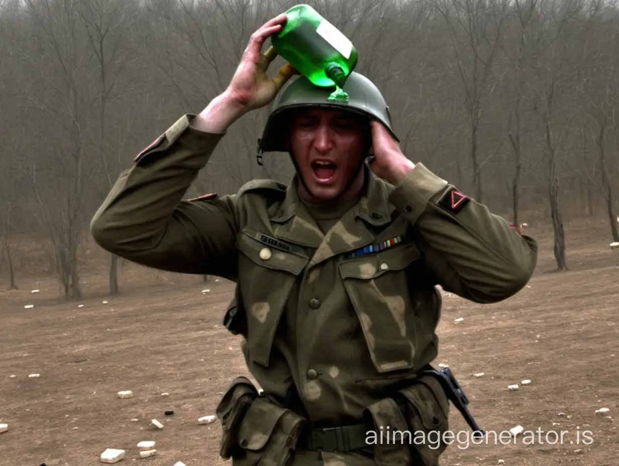
M443 465L619 464L619 251L606 230L566 225L570 270L556 273L551 231L530 228L540 260L521 293L490 306L444 295L435 365L449 365L483 429L542 433L468 446L462 433ZM214 414L234 376L248 375L240 340L221 325L231 284L128 265L122 295L110 298L105 262L82 279L86 297L76 303L59 300L53 277L20 276L20 290L0 291L0 423L9 425L0 465L95 465L108 447L126 450L119 464L225 464L219 424L197 419ZM530 384L508 390L523 379ZM595 413L602 407L610 411ZM453 406L451 419L454 432L468 429ZM563 442L548 431L566 431ZM154 457L139 457L144 440L157 442Z

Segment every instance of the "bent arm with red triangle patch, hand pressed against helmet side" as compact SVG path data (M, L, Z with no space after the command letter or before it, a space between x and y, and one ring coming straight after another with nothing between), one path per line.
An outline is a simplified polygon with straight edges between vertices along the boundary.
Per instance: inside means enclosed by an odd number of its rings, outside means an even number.
M445 290L495 303L521 290L537 264L537 242L422 163L404 157L373 123L374 172L395 185L389 201L413 225L425 262Z

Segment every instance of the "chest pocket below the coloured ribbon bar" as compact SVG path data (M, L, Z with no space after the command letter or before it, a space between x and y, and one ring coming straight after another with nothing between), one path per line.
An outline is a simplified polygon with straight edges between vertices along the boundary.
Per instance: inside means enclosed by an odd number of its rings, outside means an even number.
M418 259L420 253L415 244L401 244L344 259L339 264L342 281L379 373L410 369L415 363L416 316L406 269Z

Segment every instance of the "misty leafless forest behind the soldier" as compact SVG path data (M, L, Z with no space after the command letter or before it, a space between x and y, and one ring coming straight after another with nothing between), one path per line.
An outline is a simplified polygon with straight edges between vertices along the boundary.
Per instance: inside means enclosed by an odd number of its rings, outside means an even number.
M79 298L89 223L119 172L232 77L281 0L0 0L2 282L43 267ZM360 54L402 149L519 225L573 218L619 241L619 5L613 0L311 1ZM273 73L283 62L278 59ZM256 163L267 109L235 124L193 194L287 182ZM44 265L28 248L45 251ZM118 292L115 257L110 293Z

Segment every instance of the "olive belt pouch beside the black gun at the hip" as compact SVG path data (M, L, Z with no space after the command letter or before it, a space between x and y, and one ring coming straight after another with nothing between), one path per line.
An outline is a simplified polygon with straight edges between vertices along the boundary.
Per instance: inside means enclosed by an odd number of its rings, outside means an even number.
M448 446L444 435L449 429L449 399L436 378L415 379L366 408L363 415L374 425L376 436L366 441L373 444L377 464L438 466Z

